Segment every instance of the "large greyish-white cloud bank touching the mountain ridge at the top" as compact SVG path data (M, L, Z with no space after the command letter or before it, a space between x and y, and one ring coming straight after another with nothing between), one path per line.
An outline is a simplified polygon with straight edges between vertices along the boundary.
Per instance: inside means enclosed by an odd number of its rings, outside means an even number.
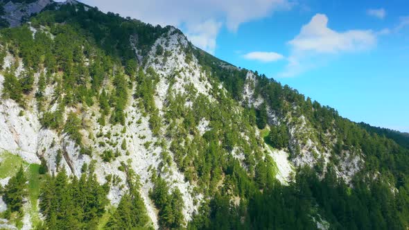
M214 51L218 31L234 32L247 22L288 10L290 0L80 0L103 11L117 12L153 25L186 28L193 44Z

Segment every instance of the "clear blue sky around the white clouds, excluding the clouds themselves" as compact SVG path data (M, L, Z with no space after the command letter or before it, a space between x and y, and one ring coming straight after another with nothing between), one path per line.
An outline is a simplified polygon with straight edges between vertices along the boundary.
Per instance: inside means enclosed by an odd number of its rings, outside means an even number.
M397 30L401 17L409 15L408 4L368 1L357 6L356 2L314 1L308 10L276 12L243 24L236 33L222 30L214 53L239 67L257 70L290 85L323 105L336 108L352 121L409 132L409 26ZM385 16L381 19L368 15L369 8L383 8ZM375 44L356 51L314 53L312 67L287 77L280 74L288 65L286 58L275 62L243 58L253 51L290 56L288 41L317 13L326 15L327 26L339 33L373 30Z

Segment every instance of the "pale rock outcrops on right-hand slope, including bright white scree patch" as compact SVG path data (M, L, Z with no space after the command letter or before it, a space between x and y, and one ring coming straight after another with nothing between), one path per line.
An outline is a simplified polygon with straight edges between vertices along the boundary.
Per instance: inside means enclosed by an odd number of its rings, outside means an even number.
M257 95L254 92L254 88L258 84L254 73L252 71L247 72L245 77L245 84L243 87L242 105L245 107L259 108L264 100L261 95ZM317 133L311 127L311 123L306 121L304 115L293 116L293 113L297 114L297 106L294 106L292 111L288 112L284 116L277 116L268 105L266 106L268 113L268 123L271 125L279 125L281 123L286 124L288 127L288 133L290 135L290 152L295 153L295 157L290 157L288 152L270 150L268 152L270 156L275 159L277 163L277 169L279 174L277 179L280 182L286 183L290 179L289 175L293 172L293 168L299 168L303 166L322 166L322 176L327 172L327 166L330 164L329 158L331 157L331 148L333 143L336 142L336 132L333 134L327 133L325 139L329 145L322 146L318 141ZM333 136L335 135L335 136ZM290 162L288 162L288 158ZM340 156L337 156L339 163L335 166L336 174L338 177L344 179L349 183L351 178L354 177L356 172L363 168L363 154L359 149L354 151L346 151Z

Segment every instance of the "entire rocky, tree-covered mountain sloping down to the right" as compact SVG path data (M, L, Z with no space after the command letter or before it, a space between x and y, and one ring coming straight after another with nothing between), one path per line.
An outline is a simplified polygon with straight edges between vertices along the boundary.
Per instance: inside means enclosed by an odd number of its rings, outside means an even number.
M44 1L4 2L0 228L409 227L401 134L219 60L172 26L76 1L14 23L6 6Z

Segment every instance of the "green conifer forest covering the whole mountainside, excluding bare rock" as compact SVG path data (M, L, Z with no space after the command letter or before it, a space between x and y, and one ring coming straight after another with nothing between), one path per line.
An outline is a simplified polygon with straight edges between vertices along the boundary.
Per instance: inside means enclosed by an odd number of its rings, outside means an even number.
M3 100L15 101L24 113L33 107L34 98L42 129L69 136L80 155L101 159L82 164L77 177L62 165L67 152L59 150L52 159L56 173L50 173L51 164L42 155L36 172L43 218L33 228L154 228L140 193L141 183L146 182L141 182L131 161L121 161L117 167L125 179L107 175L101 183L95 172L97 163L132 156L128 147L132 139L112 141L127 133L132 116L127 108L132 106L148 120L157 140L144 142L143 148L162 148L148 193L161 229L408 229L408 136L351 122L335 109L257 72L254 94L263 103L243 106L250 71L190 43L183 50L184 61L197 60L204 78L209 78L210 93L199 94L194 85L187 85L185 94L169 88L159 109L155 96L164 76L149 66L148 57L155 51L158 63L170 58L166 47L155 45L169 33L183 36L171 26L151 26L80 3L53 3L29 23L0 30L0 62L8 56L21 60L1 70ZM132 44L130 37L136 35ZM184 71L175 71L169 85L176 84L175 78ZM184 106L189 103L190 107ZM100 125L95 136L87 132L94 124L83 115L89 111ZM278 122L269 118L271 113ZM284 150L290 161L302 155L304 145L293 141L291 131L299 117L313 131L297 138L312 139L317 150L328 150L329 163L316 157L316 163L298 167L293 179L283 184L275 177L277 166L266 152ZM201 133L197 127L203 120L209 121L211 129ZM141 118L132 122L142 123ZM112 127L120 127L121 132L107 131ZM257 135L263 132L265 136ZM146 139L139 133L132 135ZM242 150L243 159L232 157L237 149ZM336 171L347 153L364 159L350 182ZM166 179L173 166L195 185L195 195L204 196L188 222L182 191ZM28 176L21 166L1 188L7 204L1 218L21 222L24 201L31 196ZM119 203L111 206L107 195L121 184L127 189Z

